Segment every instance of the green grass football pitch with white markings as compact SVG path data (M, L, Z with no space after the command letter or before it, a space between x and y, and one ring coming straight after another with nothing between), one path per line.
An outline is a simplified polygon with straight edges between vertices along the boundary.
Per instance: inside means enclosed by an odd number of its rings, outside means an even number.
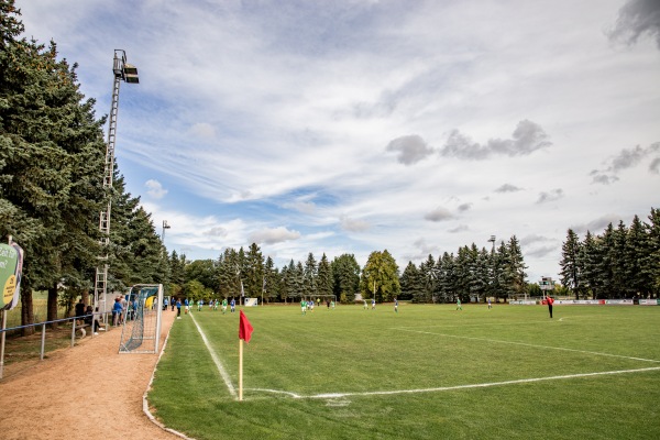
M239 314L205 309L148 400L196 439L660 438L660 307L554 309L250 308L243 402Z

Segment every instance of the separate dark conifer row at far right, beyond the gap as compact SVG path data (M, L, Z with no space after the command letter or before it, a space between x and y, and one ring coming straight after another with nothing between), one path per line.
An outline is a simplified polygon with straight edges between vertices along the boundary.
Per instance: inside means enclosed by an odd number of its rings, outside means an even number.
M660 210L648 222L635 216L601 234L587 231L580 240L568 230L562 244L561 284L575 296L598 298L658 297L660 293Z

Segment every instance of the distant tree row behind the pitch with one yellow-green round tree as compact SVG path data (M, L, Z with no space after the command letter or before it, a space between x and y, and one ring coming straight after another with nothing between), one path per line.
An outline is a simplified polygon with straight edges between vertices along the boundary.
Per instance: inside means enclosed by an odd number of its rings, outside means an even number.
M460 248L455 256L444 252L436 261L429 255L419 267L409 262L403 274L387 250L372 252L364 267L353 254L332 261L322 254L317 262L310 252L305 262L292 260L277 268L255 243L248 251L227 249L218 260L186 262L185 256L173 252L169 265L168 294L193 300L245 296L286 302L333 296L341 302L352 302L361 295L377 302L394 298L452 302L457 298L485 300L529 293L526 265L515 235L492 251L472 243Z

